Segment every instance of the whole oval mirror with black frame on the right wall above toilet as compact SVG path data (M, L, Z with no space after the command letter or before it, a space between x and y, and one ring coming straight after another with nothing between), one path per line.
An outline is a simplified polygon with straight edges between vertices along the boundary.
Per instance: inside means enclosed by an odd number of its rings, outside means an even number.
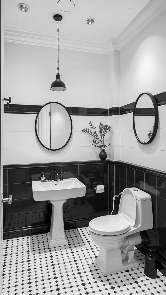
M159 114L157 102L149 93L141 93L133 110L133 129L136 139L147 145L154 139L158 128Z

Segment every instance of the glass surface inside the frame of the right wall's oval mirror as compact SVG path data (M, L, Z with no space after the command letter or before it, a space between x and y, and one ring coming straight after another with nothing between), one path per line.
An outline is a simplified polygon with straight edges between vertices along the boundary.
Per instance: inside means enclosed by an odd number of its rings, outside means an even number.
M155 111L151 98L143 94L136 104L134 122L139 140L147 143L154 130Z

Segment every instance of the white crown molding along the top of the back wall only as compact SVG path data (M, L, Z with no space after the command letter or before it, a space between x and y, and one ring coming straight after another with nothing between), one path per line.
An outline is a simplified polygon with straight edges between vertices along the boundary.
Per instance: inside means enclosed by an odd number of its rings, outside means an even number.
M57 47L57 39L53 35L44 35L40 33L27 32L9 28L5 28L4 41L53 48ZM70 38L59 38L59 41L59 48L62 49L100 54L109 54L108 52L114 50L114 46L112 45L110 39L105 44L87 42L84 40L75 40Z

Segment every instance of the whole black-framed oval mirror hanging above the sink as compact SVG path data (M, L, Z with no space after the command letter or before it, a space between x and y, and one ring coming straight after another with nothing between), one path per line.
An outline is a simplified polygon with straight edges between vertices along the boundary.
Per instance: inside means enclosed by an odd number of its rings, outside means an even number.
M72 128L71 116L59 102L48 102L36 116L36 136L48 150L64 148L71 138Z

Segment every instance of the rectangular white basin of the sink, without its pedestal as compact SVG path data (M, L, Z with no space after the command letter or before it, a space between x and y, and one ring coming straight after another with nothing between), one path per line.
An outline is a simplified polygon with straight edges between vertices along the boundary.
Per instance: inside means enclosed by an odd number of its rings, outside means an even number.
M83 197L86 186L77 178L66 178L63 181L32 181L33 199L35 201L56 201Z

